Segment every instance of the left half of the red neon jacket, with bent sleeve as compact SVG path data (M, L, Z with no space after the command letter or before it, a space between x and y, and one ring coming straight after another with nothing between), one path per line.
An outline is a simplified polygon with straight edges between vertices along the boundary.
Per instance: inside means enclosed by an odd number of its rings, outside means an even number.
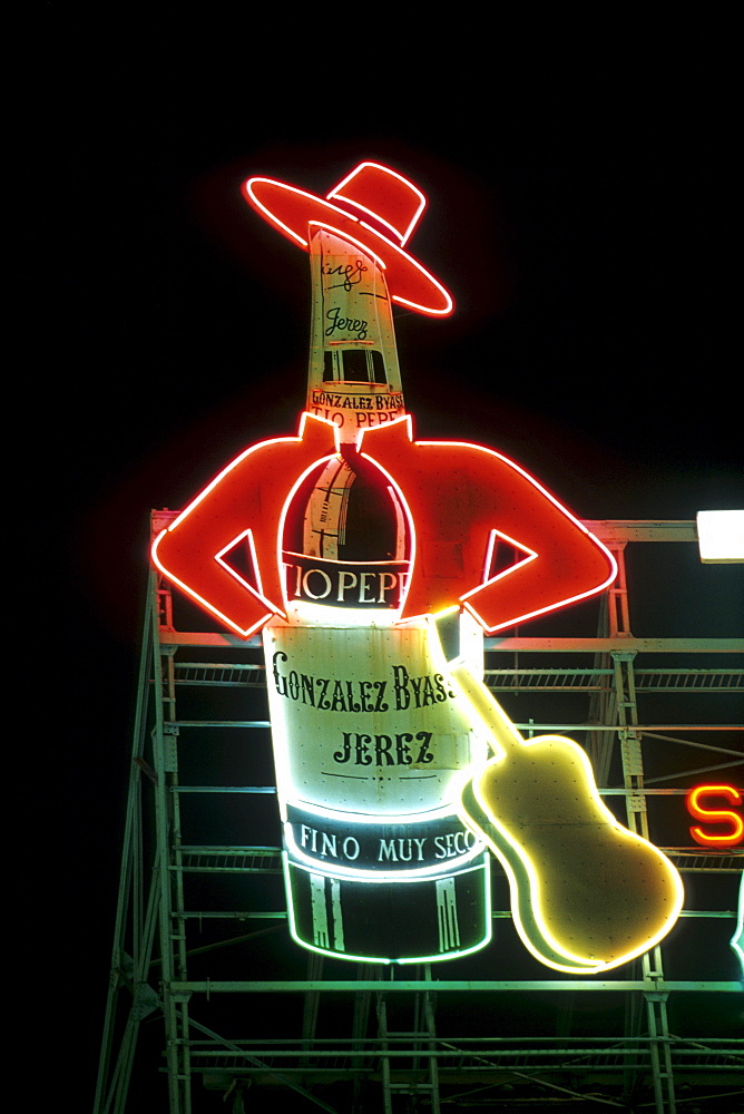
M297 481L335 452L333 428L306 416L300 437L246 449L194 499L153 546L153 561L224 625L247 638L281 613L280 529ZM249 585L222 560L246 538L254 565Z

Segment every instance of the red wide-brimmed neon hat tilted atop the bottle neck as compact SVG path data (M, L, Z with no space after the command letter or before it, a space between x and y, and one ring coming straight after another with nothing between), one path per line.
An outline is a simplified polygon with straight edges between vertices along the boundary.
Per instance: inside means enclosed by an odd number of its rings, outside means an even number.
M360 163L325 198L274 178L248 178L243 193L265 221L305 251L313 225L359 243L383 268L393 302L433 316L452 312L441 283L403 251L427 198L395 170Z

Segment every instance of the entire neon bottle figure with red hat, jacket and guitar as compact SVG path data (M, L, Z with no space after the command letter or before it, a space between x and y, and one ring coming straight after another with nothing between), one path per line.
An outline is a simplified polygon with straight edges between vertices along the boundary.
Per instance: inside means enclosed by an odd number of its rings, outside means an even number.
M601 592L615 560L507 457L414 439L392 303L452 309L405 250L421 190L368 162L325 198L265 177L244 193L310 254L306 411L232 461L153 560L231 631L262 631L291 932L379 962L478 950L492 852L537 958L625 962L676 918L676 871L611 817L576 743L526 743L477 680L483 631Z

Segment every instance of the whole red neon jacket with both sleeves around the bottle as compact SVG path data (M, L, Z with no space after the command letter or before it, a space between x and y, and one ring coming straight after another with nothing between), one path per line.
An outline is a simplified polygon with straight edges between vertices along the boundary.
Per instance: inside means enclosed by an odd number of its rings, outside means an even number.
M236 458L156 539L161 573L226 626L248 637L282 614L281 531L300 481L335 456L334 427L305 414L296 438L262 441ZM368 430L361 451L382 468L408 508L415 537L400 616L468 607L488 632L607 587L605 547L518 465L491 449L413 441L408 419ZM526 558L488 577L492 531ZM256 592L221 559L239 539L253 547Z

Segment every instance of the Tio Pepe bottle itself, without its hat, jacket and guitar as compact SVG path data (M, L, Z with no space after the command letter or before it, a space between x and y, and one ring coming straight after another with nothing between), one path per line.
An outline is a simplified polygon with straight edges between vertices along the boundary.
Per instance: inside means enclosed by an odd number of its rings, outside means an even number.
M444 959L490 939L487 852L457 814L484 747L430 619L397 623L414 538L358 449L403 413L383 270L326 228L310 248L307 408L340 452L287 505L284 616L263 632L291 928L323 952Z

